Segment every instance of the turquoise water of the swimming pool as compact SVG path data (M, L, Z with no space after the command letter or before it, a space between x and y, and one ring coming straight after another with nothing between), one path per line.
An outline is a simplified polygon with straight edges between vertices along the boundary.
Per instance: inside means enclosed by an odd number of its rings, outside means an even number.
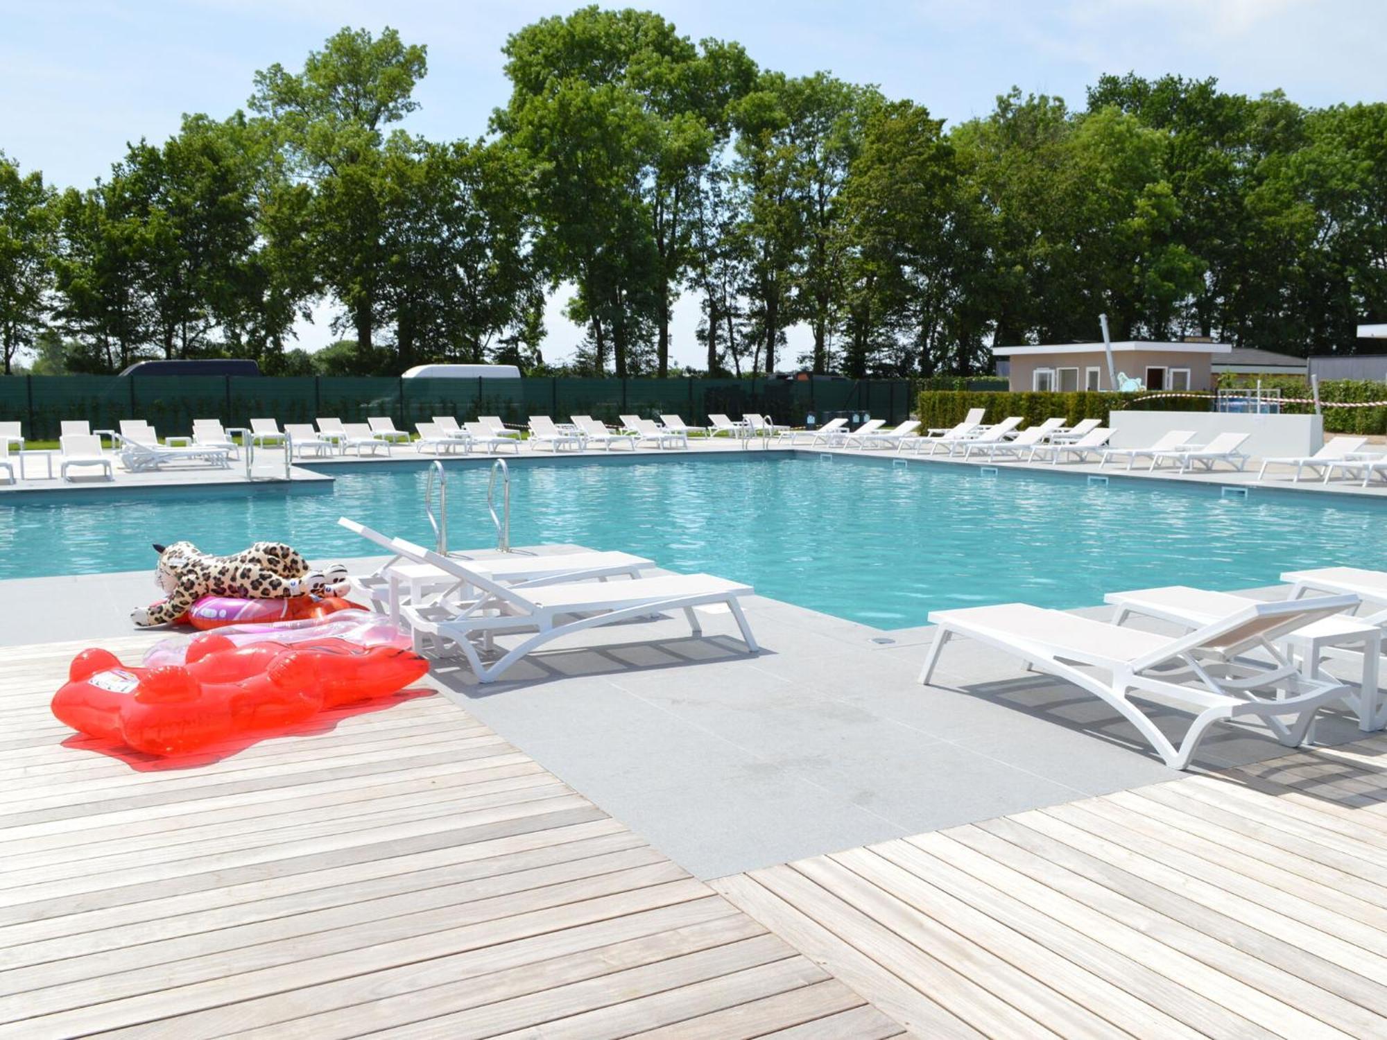
M376 549L350 516L431 545L424 466L325 467L325 494L101 496L0 505L0 577L139 570L150 542L234 552L286 541L315 559ZM449 467L449 548L494 544L487 470ZM1387 503L886 460L734 456L512 466L512 542L627 549L678 571L879 628L932 609L1072 607L1112 589L1275 584L1287 569L1387 569Z

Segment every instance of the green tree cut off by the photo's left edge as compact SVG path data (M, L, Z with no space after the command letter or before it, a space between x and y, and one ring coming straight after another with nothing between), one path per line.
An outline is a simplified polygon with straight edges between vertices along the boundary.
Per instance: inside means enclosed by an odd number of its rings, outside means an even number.
M53 283L55 194L33 171L0 151L0 352L4 374L15 355L33 347L43 329Z

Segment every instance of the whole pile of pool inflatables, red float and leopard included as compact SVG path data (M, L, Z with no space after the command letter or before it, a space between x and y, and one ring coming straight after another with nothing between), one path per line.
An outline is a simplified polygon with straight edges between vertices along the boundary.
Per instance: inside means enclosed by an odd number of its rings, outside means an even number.
M140 667L108 650L79 653L53 714L87 736L186 754L387 696L429 671L408 635L341 599L345 567L311 570L279 542L232 556L191 542L154 549L165 598L137 609L135 624L187 621L218 632L165 639Z

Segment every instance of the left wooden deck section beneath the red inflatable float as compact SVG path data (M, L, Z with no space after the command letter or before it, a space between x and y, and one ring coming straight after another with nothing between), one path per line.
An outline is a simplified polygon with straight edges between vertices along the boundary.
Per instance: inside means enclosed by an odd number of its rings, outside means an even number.
M64 746L78 649L0 652L0 1036L903 1032L441 696L161 770Z

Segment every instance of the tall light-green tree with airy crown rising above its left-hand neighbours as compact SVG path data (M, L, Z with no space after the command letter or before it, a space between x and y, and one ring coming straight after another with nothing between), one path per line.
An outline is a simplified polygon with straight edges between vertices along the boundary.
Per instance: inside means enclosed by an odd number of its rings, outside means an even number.
M291 169L313 187L309 255L347 308L365 352L381 305L388 255L381 240L386 128L417 108L424 47L386 28L380 39L343 29L312 51L302 72L275 64L255 73L250 105L270 121Z

